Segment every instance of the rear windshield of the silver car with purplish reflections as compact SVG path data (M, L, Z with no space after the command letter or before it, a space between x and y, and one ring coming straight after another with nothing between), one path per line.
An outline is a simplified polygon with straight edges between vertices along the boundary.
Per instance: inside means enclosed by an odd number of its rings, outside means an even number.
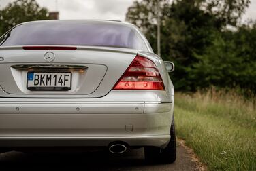
M148 51L132 26L112 22L20 24L0 38L0 46L13 45L93 45Z

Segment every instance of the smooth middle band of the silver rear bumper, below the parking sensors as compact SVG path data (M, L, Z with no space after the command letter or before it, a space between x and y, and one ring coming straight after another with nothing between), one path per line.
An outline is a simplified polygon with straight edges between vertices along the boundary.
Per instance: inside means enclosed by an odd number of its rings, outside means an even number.
M142 104L143 105L143 104ZM125 107L125 105L123 105ZM139 106L135 104L134 106ZM142 107L143 109L143 107ZM109 109L108 109L109 110ZM163 113L1 113L1 136L154 136L169 134ZM133 109L135 110L135 109ZM131 112L133 112L133 110ZM110 112L113 109L109 110ZM120 110L119 110L120 111ZM125 130L133 126L133 130ZM165 128L166 129L163 129Z

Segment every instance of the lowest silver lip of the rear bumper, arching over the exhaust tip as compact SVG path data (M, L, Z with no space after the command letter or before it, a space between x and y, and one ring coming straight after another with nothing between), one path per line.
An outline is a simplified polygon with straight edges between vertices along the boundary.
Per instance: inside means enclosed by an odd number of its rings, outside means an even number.
M0 147L106 147L111 142L126 142L131 147L165 147L170 135L95 136L95 137L0 137Z

